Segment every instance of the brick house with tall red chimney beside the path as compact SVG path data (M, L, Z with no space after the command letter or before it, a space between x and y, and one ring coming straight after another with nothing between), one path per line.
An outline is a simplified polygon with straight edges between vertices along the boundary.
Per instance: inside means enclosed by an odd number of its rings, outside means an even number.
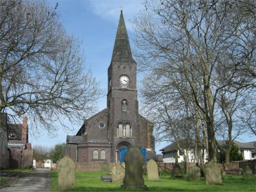
M23 124L8 124L8 148L10 167L33 166L33 150L28 142L28 117L23 117Z

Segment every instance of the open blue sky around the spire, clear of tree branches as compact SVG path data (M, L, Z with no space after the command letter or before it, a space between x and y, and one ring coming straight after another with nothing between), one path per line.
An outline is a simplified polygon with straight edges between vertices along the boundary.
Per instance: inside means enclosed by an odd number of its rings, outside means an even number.
M143 1L48 1L54 8L56 3L57 13L61 15L60 22L69 34L82 40L82 49L86 55L87 68L91 68L94 76L100 82L101 88L105 89L104 97L98 102L98 111L106 107L106 87L108 85L108 67L110 65L115 36L120 16L120 6L122 6L123 16L130 44L133 49L133 29L131 21L133 16L144 9ZM139 82L138 82L139 83ZM29 119L28 119L29 123ZM47 132L42 132L37 138L29 138L32 147L40 145L53 147L57 143L66 142L67 134L74 135L82 125L82 121L73 125L73 132L65 132L61 128L58 137L49 138ZM242 137L242 142L256 140L255 137ZM160 154L162 149L169 143L156 143L156 152Z

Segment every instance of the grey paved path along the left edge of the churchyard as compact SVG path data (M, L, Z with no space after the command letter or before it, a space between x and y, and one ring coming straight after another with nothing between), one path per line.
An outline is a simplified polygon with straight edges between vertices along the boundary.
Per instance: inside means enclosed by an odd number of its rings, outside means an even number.
M35 172L30 173L15 181L10 181L9 187L1 188L0 191L50 191L50 170L49 169L37 169Z

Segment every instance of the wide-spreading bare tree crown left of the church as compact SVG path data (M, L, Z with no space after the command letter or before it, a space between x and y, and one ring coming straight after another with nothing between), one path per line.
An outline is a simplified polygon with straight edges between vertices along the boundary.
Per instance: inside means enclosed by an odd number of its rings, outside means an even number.
M84 68L80 42L44 1L0 1L0 111L27 115L37 133L95 109L99 84ZM41 125L38 125L38 124Z

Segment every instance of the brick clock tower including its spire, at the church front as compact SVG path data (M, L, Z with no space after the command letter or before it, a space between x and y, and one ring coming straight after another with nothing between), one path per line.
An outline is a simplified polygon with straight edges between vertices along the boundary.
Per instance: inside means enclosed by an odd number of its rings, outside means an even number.
M112 143L111 159L118 151L132 146L142 147L136 87L137 65L121 11L110 66L108 68L108 126Z

